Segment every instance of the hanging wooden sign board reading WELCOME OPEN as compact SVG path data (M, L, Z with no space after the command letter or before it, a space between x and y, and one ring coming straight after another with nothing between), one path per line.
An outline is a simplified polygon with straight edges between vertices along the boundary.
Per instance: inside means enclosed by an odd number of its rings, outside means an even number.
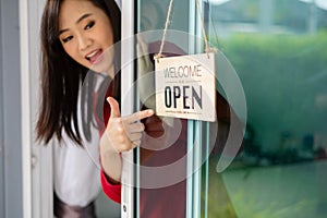
M155 63L158 116L216 121L214 52L160 58Z

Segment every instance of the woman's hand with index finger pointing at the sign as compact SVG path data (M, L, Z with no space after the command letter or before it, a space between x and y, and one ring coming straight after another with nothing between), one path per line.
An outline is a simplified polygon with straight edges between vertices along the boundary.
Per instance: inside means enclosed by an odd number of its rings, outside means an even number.
M128 152L141 144L144 124L142 119L152 117L154 110L143 110L130 116L121 117L117 100L108 97L107 101L111 108L111 114L105 131L110 146L117 152Z

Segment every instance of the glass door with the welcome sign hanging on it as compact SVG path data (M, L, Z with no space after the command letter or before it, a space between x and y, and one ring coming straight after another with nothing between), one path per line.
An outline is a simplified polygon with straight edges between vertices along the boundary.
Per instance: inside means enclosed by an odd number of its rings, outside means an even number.
M162 31L156 29L165 27L169 3L137 1L137 33L149 53L161 45ZM158 118L164 135L171 128L179 136L169 148L157 147L160 152L138 150L136 215L324 217L326 5L207 0L201 9L198 16L195 0L173 3L166 46L174 56L203 52L203 17L210 47L218 49L218 122ZM160 134L147 140L166 145ZM182 144L180 153L174 144ZM160 162L165 152L169 161ZM165 171L182 157L183 167ZM173 206L158 207L159 199Z

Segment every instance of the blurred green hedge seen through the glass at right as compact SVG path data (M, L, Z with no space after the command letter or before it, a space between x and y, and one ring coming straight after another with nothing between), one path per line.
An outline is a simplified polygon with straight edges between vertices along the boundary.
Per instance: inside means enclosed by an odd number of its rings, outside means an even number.
M219 48L240 76L249 124L264 150L280 150L286 132L300 146L304 135L326 131L326 106L316 98L326 93L327 33L235 34L219 39Z

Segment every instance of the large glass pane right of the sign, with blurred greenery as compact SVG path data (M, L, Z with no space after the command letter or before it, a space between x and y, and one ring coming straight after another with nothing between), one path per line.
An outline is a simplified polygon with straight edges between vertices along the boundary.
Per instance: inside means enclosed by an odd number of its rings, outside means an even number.
M242 82L247 123L227 170L211 154L208 217L325 217L326 2L209 2L210 41Z

